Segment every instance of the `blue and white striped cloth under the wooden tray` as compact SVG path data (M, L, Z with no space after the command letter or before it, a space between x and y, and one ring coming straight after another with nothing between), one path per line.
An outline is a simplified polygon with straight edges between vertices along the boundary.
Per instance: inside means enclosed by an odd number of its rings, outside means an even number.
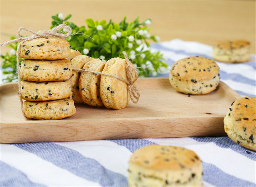
M213 48L174 39L152 44L152 50L171 66L187 56L212 58ZM221 81L241 97L255 96L255 54L247 63L217 64ZM127 186L130 155L150 144L195 151L204 186L256 186L256 153L227 136L0 144L0 186Z

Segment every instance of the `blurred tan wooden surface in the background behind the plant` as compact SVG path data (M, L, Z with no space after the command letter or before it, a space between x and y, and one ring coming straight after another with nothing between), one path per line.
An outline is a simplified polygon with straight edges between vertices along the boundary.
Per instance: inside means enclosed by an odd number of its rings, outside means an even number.
M78 26L86 18L112 19L120 22L124 16L132 21L152 19L151 34L161 41L180 38L213 46L223 39L245 39L252 43L255 53L255 1L205 0L205 1L0 1L0 42L16 36L19 27L35 32L49 29L51 16L72 14L70 19ZM2 52L10 50L1 48Z

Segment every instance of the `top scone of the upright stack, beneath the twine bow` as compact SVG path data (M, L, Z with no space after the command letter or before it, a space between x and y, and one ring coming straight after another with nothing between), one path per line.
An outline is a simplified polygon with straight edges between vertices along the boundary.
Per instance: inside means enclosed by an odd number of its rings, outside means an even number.
M25 41L19 50L20 58L59 60L70 55L69 42L61 38L36 38Z

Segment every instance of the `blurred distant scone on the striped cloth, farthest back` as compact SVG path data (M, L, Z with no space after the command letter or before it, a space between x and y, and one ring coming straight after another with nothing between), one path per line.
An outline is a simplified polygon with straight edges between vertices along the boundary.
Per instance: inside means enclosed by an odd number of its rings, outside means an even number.
M250 42L244 40L219 41L214 46L213 59L230 63L247 62L251 59Z

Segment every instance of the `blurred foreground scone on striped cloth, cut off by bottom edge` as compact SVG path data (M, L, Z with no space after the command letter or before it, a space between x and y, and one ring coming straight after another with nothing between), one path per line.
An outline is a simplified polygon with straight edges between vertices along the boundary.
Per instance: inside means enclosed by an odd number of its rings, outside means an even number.
M129 186L202 186L202 163L191 150L150 145L134 151L128 169Z

